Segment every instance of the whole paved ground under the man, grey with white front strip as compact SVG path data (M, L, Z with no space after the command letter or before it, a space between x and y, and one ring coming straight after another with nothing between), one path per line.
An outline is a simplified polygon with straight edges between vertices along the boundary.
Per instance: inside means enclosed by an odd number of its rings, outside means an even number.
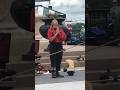
M51 78L51 74L35 77L35 90L85 90L85 70L76 68L74 76L61 72L64 78Z

